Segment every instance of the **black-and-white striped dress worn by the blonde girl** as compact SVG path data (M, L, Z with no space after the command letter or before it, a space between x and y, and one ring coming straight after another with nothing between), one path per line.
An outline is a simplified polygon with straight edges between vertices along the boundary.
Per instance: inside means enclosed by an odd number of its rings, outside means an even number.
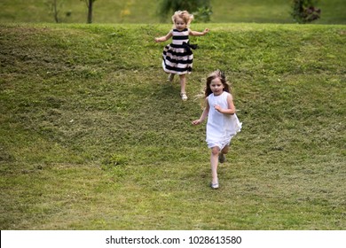
M173 29L172 43L162 53L162 67L169 74L190 74L193 70L193 51L188 47L189 30Z

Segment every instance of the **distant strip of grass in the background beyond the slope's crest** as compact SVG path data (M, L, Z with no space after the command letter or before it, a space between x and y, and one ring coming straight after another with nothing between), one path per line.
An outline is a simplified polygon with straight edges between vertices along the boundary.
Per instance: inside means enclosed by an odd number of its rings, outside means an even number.
M54 22L45 1L2 0L0 22ZM67 23L85 23L86 5L83 1L59 0L59 19ZM157 3L153 0L114 1L102 0L94 4L94 23L145 23L159 22ZM257 22L292 23L291 0L211 0L215 23ZM318 1L322 10L316 24L346 24L344 0ZM67 17L67 12L70 14ZM170 23L170 17L167 18Z

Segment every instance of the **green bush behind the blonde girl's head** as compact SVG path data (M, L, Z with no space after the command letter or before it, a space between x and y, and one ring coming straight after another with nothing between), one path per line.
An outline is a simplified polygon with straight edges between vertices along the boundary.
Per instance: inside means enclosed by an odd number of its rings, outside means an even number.
M169 12L188 11L195 15L197 20L208 21L212 13L210 0L161 0L158 12L161 20L167 18ZM201 15L201 18L199 17ZM206 17L208 15L208 17Z

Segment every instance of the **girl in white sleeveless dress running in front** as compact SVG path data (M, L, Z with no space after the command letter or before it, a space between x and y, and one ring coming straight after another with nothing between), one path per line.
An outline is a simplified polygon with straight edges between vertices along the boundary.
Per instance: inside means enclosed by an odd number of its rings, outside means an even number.
M217 70L209 74L205 89L206 108L200 119L193 120L193 125L199 125L208 117L207 143L211 149L210 164L212 189L218 189L217 166L224 163L224 154L229 151L231 139L241 129L241 123L236 115L230 86L224 73Z

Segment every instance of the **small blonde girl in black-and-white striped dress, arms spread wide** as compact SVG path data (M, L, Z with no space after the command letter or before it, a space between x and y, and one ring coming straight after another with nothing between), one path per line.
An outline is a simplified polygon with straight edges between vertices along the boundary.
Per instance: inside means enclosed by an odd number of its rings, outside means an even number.
M185 85L186 74L191 74L193 70L193 51L197 46L189 43L189 35L206 35L209 29L203 32L193 31L189 28L193 15L186 11L175 12L172 16L173 29L165 36L156 37L156 43L162 43L172 38L172 43L166 45L162 53L163 70L169 74L169 81L173 81L174 75L178 74L180 78L180 96L187 100Z

